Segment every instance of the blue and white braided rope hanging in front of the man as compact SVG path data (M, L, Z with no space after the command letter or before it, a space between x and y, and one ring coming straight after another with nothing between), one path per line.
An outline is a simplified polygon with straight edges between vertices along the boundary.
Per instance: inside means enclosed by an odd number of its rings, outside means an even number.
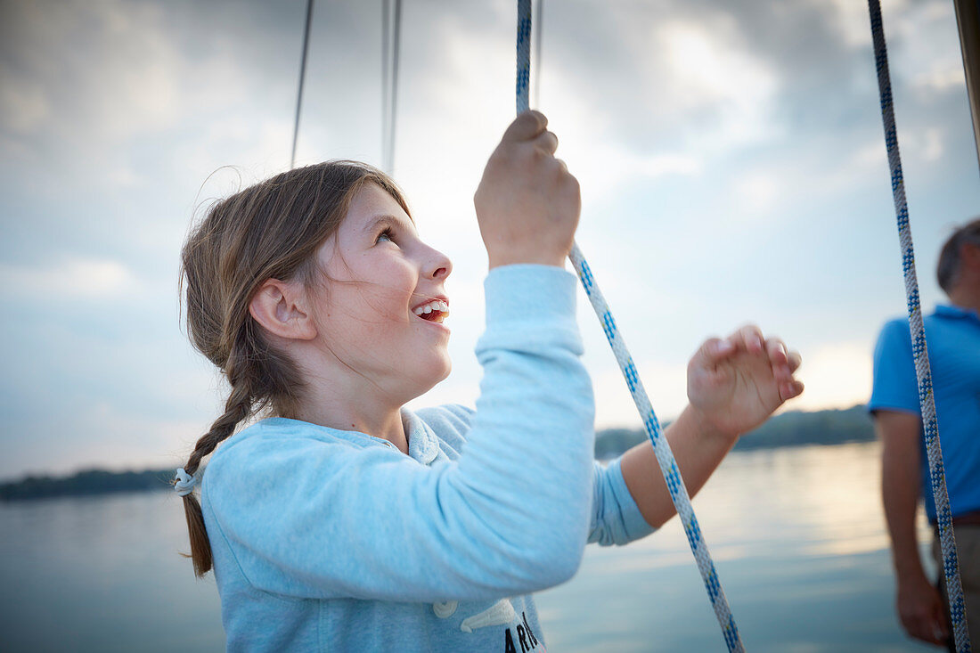
M950 617L953 622L954 641L958 653L970 650L969 632L963 608L963 587L959 580L956 561L956 539L953 533L953 514L950 497L946 491L946 472L943 452L939 444L939 425L936 421L936 403L932 394L932 372L929 369L929 353L926 349L925 328L922 325L922 309L919 306L918 280L915 276L915 252L912 235L908 228L906 186L902 176L902 158L899 155L899 137L895 128L895 111L892 107L892 82L888 73L888 49L881 24L881 4L878 0L867 1L871 17L871 38L874 41L874 64L878 73L878 93L881 98L881 120L885 127L885 146L888 149L888 166L892 173L892 195L895 199L895 215L902 245L902 268L906 278L908 329L915 359L915 377L918 380L919 407L925 430L926 457L929 460L929 480L936 500L936 523L939 527L940 548L943 551L943 574L950 600Z

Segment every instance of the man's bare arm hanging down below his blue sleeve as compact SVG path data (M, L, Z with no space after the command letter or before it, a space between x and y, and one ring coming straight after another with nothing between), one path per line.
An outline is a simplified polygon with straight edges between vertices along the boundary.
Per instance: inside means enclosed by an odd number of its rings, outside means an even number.
M942 599L925 576L915 537L921 422L912 413L879 410L874 425L883 445L881 495L892 539L899 619L912 637L942 644L949 637Z

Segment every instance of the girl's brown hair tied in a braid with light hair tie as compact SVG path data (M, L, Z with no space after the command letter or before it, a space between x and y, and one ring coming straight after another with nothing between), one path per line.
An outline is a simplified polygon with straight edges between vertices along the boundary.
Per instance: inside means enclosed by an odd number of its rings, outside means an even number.
M354 161L328 161L291 170L220 200L195 226L181 251L180 292L191 342L221 368L231 387L224 414L194 446L184 470L197 473L239 423L267 411L295 416L304 389L296 364L270 346L249 303L270 279L318 278L316 253L347 215L352 198L376 183L406 213L401 190L384 173ZM212 568L201 505L184 499L194 573Z

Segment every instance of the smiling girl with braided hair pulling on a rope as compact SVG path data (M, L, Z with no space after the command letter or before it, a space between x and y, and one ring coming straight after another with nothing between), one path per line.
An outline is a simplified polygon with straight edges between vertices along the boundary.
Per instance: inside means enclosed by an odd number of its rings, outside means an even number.
M531 592L571 578L587 541L624 544L673 514L649 442L593 460L564 271L578 184L546 126L519 116L474 197L490 262L475 411L403 408L449 375L452 264L380 172L283 173L189 236L190 337L231 392L175 486L229 651L544 651ZM694 356L691 405L667 429L692 494L802 391L798 365L755 327Z

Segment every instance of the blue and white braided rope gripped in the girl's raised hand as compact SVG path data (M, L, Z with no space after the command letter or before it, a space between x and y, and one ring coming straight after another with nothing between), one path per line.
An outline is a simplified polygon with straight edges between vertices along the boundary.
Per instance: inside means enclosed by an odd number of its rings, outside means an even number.
M529 108L528 80L530 79L531 68L530 45L531 0L517 0L516 90L518 114L527 111ZM694 553L694 559L698 563L701 578L705 581L705 588L708 590L708 596L711 598L711 607L714 609L714 615L717 617L718 624L721 626L725 644L727 644L729 651L745 651L745 646L743 646L738 634L738 628L735 626L735 619L732 617L731 609L728 607L728 600L725 598L724 590L721 588L721 581L718 580L718 574L714 569L714 562L711 560L708 544L705 542L705 538L701 534L701 527L698 526L698 520L694 516L691 497L687 493L687 487L684 486L684 480L680 476L680 470L677 468L677 462L674 460L673 453L670 451L670 445L667 444L666 438L663 437L661 423L657 419L657 415L654 413L654 409L650 404L650 398L647 396L647 391L644 389L643 382L640 380L640 376L636 371L636 366L633 364L633 358L626 350L626 343L623 342L622 336L615 326L613 314L606 304L606 298L603 297L602 291L596 285L592 271L589 269L589 265L585 262L585 257L582 256L582 252L578 248L578 243L572 243L568 258L571 260L571 265L575 268L575 272L578 273L578 277L582 281L582 287L585 288L585 294L588 295L589 301L592 303L592 308L595 309L596 315L603 325L606 337L613 347L615 359L619 363L619 370L622 371L622 376L626 379L626 385L629 387L630 394L633 395L636 409L640 412L640 417L643 419L643 426L646 427L647 435L654 445L654 454L657 456L657 462L661 466L661 472L666 481L667 489L670 492L670 498L673 500L674 507L677 509L677 515L684 525L684 532L687 533L687 541L690 543L691 551Z

